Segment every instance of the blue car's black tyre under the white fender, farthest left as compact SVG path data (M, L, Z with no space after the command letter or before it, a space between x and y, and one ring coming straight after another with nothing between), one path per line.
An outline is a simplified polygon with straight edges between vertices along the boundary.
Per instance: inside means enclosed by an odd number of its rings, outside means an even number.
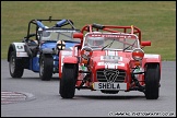
M10 54L9 70L12 78L22 78L24 68L22 59L16 59L15 51Z

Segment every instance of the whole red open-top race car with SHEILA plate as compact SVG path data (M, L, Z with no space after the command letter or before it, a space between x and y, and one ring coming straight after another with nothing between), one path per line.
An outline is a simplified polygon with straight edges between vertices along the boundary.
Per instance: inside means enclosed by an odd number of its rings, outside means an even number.
M141 40L135 26L88 24L80 34L81 44L59 54L59 94L72 98L75 88L106 94L140 91L146 99L157 99L161 56L144 54L151 42Z

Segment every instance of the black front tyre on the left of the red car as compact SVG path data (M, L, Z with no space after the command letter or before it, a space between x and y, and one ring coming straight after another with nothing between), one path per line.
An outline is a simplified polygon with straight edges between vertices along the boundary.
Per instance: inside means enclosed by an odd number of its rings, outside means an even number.
M59 93L62 98L72 98L75 94L78 64L63 64Z

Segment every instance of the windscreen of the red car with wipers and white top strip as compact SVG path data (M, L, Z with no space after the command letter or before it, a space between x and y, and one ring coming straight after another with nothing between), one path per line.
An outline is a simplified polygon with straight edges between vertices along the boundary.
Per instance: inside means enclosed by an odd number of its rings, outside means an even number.
M133 50L139 47L139 39L133 34L87 34L83 46L93 49Z

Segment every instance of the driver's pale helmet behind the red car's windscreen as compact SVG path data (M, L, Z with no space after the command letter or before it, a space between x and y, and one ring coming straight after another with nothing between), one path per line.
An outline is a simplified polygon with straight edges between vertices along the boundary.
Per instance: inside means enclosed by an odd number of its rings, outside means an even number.
M87 37L87 46L91 47L103 47L104 46L104 37Z

